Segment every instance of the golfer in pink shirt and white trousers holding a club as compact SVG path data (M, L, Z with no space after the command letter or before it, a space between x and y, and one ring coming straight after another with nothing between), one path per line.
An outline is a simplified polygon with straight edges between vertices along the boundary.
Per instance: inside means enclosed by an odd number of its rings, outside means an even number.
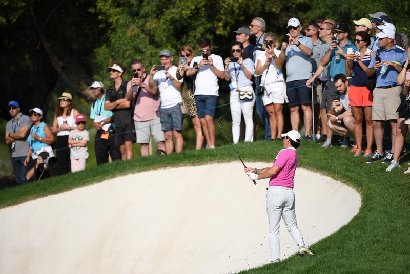
M293 178L298 164L296 149L300 145L300 133L291 130L281 135L284 149L279 151L272 167L245 168L249 179L260 180L270 178L268 194L266 196L266 208L269 221L269 247L271 250L271 262L280 261L279 223L282 216L295 243L299 246L301 255L313 255L303 241L295 214L295 193L293 192Z

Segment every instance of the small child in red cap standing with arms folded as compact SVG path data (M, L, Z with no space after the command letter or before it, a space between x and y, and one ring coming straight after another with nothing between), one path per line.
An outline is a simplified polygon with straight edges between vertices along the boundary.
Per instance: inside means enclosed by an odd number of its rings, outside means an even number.
M78 114L75 117L77 128L70 131L68 145L71 149L71 172L85 170L88 158L87 143L90 141L90 134L84 129L86 117Z

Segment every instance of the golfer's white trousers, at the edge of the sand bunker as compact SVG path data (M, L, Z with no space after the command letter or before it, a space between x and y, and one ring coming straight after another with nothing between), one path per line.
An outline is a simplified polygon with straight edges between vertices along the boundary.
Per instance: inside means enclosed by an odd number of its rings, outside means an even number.
M269 248L271 261L280 259L279 223L280 217L286 225L297 246L305 246L302 234L298 227L295 213L295 193L292 188L269 186L266 195L266 210L269 221Z

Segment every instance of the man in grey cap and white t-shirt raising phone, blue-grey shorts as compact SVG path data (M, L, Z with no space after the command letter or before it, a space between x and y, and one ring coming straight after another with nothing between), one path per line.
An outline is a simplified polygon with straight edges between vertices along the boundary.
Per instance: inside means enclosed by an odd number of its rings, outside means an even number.
M161 130L165 136L165 150L167 154L171 154L174 151L172 136L175 137L175 151L181 152L183 149L181 111L183 78L181 80L176 78L177 67L172 65L174 57L172 57L170 50L162 50L159 53L159 58L164 68L157 70L156 65L152 66L147 91L155 95L159 90Z

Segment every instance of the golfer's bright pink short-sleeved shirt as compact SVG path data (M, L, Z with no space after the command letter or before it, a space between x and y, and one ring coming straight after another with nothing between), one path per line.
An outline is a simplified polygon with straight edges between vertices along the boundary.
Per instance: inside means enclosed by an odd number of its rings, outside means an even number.
M271 177L269 185L293 188L293 178L295 177L295 170L298 165L296 149L290 147L289 149L279 151L274 165L279 166L281 170Z

